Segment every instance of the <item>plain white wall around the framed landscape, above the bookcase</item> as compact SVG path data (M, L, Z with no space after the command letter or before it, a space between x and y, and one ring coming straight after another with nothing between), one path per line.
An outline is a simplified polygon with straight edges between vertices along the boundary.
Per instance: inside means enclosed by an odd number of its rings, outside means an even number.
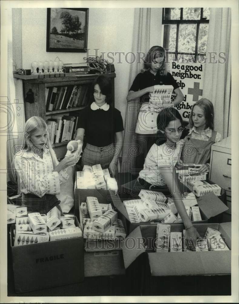
M132 49L134 8L89 9L88 49L113 52L115 65L115 107L121 111L125 121L126 96L128 93L129 71L124 56L118 63L115 52L125 54ZM30 69L32 61L55 60L58 56L64 63L84 62L85 53L46 52L47 9L22 9L22 67ZM104 55L111 61L110 57ZM129 57L130 58L130 57ZM128 60L130 60L128 58Z

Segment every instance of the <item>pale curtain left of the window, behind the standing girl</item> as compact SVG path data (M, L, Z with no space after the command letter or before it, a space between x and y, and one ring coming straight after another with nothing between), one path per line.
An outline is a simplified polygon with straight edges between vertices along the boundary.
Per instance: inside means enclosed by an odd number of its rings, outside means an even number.
M147 54L148 50L154 45L159 45L162 31L162 9L161 8L136 8L134 10L134 29L132 53ZM142 57L142 54L140 55ZM129 88L134 78L140 73L143 64L134 60L130 66ZM137 123L139 103L138 100L131 100L127 103L124 144L122 150L121 172L134 173L135 157L138 154L134 132Z

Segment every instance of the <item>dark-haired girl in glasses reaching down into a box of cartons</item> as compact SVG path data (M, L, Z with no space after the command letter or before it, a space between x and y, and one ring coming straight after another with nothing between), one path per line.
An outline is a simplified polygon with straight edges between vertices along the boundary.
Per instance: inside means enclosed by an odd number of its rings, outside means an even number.
M131 184L131 196L137 196L141 189L160 191L166 196L172 195L186 229L186 239L191 238L196 244L200 236L186 212L174 168L181 157L184 144L184 140L181 139L183 121L178 110L172 108L159 112L157 127L156 141L145 158L144 168L140 171L138 179Z

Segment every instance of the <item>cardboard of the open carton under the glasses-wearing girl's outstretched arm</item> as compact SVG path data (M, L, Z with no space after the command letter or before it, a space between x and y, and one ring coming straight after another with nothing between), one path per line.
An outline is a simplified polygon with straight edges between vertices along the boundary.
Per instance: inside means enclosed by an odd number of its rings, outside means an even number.
M198 207L200 209L202 221L193 223L207 223L211 217L217 216L226 211L228 207L213 193L207 193L197 198ZM114 205L116 209L124 216L127 224L127 232L131 233L136 227L140 225L150 225L150 222L131 223L128 213L120 199L114 198ZM157 223L154 223L156 226Z

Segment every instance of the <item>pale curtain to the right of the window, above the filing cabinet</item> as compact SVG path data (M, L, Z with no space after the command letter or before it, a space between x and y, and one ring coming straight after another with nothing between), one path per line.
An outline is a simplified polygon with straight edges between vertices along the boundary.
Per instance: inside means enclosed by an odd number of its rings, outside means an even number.
M231 135L231 8L210 9L207 60L210 52L212 62L224 61L220 56L225 62L205 64L203 97L213 103L214 129L225 138Z

